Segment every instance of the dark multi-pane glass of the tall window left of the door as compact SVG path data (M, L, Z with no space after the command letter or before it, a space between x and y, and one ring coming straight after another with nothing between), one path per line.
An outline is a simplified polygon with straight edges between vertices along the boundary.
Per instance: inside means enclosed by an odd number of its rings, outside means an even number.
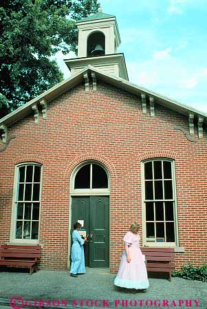
M13 238L18 241L30 242L39 238L41 168L36 163L17 167Z

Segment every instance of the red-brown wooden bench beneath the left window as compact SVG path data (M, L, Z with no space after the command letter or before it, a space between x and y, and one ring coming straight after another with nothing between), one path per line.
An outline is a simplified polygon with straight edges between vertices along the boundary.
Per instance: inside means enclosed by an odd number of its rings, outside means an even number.
M0 266L30 268L30 275L37 270L36 262L41 256L41 246L0 246Z

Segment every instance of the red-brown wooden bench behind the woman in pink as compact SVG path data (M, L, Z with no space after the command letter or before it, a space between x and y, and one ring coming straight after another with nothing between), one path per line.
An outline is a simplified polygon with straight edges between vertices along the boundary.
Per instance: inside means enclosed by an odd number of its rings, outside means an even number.
M171 273L175 270L175 251L173 248L140 248L145 255L146 270L151 272Z

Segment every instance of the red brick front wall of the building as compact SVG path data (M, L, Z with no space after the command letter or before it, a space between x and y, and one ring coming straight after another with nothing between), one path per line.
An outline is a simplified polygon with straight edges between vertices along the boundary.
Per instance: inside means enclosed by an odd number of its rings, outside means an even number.
M141 161L167 157L175 160L179 246L185 248L176 254L177 267L207 262L207 140L189 142L175 125L188 130L188 118L156 101L155 117L149 109L144 115L137 96L101 81L97 92L86 93L82 84L48 103L47 120L40 115L38 125L32 115L12 125L9 136L16 138L0 153L0 243L10 240L15 164L40 162L41 267L65 270L70 175L80 162L99 160L111 175L110 258L116 272L124 233L131 221L141 223Z

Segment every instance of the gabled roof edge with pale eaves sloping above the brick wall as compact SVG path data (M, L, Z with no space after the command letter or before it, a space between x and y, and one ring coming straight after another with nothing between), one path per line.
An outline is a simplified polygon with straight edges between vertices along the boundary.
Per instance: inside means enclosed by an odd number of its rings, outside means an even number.
M0 125L4 124L6 126L11 126L14 122L19 121L28 114L31 114L33 112L32 105L34 105L34 103L39 103L43 99L45 99L47 103L50 103L50 101L53 100L54 98L60 96L64 92L67 92L67 90L75 87L76 85L78 85L78 83L81 83L81 81L83 81L84 79L83 75L85 73L90 74L91 72L94 72L96 74L96 78L105 81L111 85L114 85L115 87L124 89L127 92L135 94L139 97L141 96L141 94L142 95L145 94L146 98L149 98L149 96L153 97L155 103L163 105L168 109L172 109L174 111L177 111L179 114L184 114L186 116L189 116L190 113L193 113L195 114L195 117L199 118L199 116L201 116L202 118L204 118L204 122L207 122L207 114L204 113L203 111L198 111L197 109L188 107L187 105L181 104L175 100L172 100L171 98L167 98L166 96L162 96L161 94L156 94L155 92L152 92L149 89L135 85L122 78L105 74L100 70L98 70L96 67L88 65L87 67L85 67L85 69L81 70L76 75L72 76L71 78L67 78L65 81L50 88L46 92L43 92L43 94L37 96L33 100L30 100L28 103L25 103L25 105L19 107L15 111L12 111L12 113L1 118Z

